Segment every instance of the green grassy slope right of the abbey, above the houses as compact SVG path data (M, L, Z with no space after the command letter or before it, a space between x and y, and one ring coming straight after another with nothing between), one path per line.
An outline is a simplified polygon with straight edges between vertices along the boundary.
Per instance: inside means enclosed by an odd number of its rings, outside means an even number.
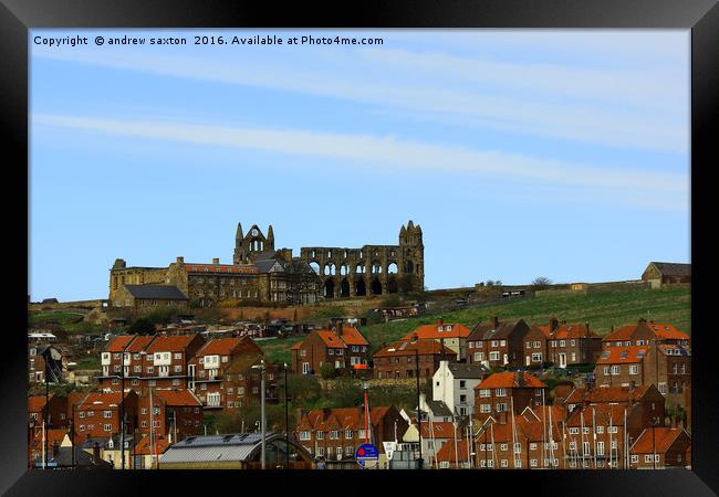
M362 332L372 343L371 350L379 349L382 342L389 343L417 328L436 322L439 317L446 322L460 322L472 327L491 316L500 319L524 319L528 324L545 324L551 316L567 322L588 322L598 335L609 332L612 326L636 322L639 318L657 322L670 322L678 329L691 334L691 293L688 287L663 289L628 289L593 295L555 295L509 300L500 304L480 305L444 314L426 314L405 321L367 326ZM270 360L290 362L290 347L302 340L292 337L262 343Z

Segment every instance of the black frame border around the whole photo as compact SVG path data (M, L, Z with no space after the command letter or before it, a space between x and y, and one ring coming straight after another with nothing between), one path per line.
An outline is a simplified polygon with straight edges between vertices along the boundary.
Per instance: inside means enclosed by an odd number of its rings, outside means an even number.
M708 254L712 244L707 237L716 230L700 229L700 216L710 208L710 181L699 181L716 167L716 120L719 115L719 8L716 0L452 0L440 4L433 0L372 0L355 4L334 2L312 4L293 2L279 8L273 2L189 0L2 0L0 6L0 102L2 105L2 134L7 141L4 151L7 202L3 228L6 248L17 251L6 261L28 257L28 218L12 215L19 211L18 199L12 197L15 181L7 178L8 170L17 173L17 190L28 191L28 29L32 28L676 28L691 29L691 252L692 283L692 472L353 472L351 477L365 478L366 485L355 489L342 485L347 476L341 472L313 472L313 479L304 482L308 473L293 472L28 472L27 461L27 373L25 293L13 286L12 315L17 316L3 334L0 409L0 443L2 464L0 490L12 486L8 495L41 495L42 493L80 495L127 495L154 489L173 488L196 491L248 491L248 484L268 484L267 490L292 493L304 488L313 493L406 493L407 486L427 478L444 491L515 493L518 486L530 495L617 495L678 496L712 495L719 491L716 444L719 408L713 388L716 372L711 361L715 329L708 326L707 302L711 297L709 274L716 274ZM342 7L340 7L342 6ZM713 154L712 154L713 152ZM713 160L711 160L713 159ZM27 167L27 166L25 166ZM22 195L21 195L22 198ZM25 198L25 210L28 199ZM712 223L716 225L716 222ZM707 226L709 228L709 226ZM24 237L22 237L24 234ZM659 242L671 233L647 233ZM716 252L716 250L713 251ZM14 257L13 257L14 255ZM712 254L713 255L713 254ZM12 257L12 258L11 258ZM13 281L24 282L28 273L18 263L9 264L18 272ZM7 268L6 268L7 269ZM29 269L29 268L28 268ZM18 286L23 287L23 284ZM27 289L27 288L25 288ZM17 307L15 307L17 299ZM22 299L22 302L21 302ZM705 325L707 322L707 325ZM13 326L14 325L14 326ZM251 473L251 474L250 474ZM481 476L480 476L481 475ZM19 478L17 480L17 478ZM280 477L280 479L278 479ZM325 482L320 482L322 477ZM367 479L368 478L368 479ZM551 479L550 479L551 478ZM330 479L331 482L326 482ZM399 482L395 482L399 479ZM15 482L17 480L17 482ZM300 486L300 480L304 485ZM14 483L14 485L13 485ZM481 485L480 485L481 483ZM161 487L160 487L161 485ZM467 488L467 489L469 489ZM331 490L330 490L331 489ZM712 491L713 489L713 491ZM144 491L145 490L145 491ZM258 489L259 490L259 489ZM262 490L260 490L262 491ZM471 491L471 490L470 490Z

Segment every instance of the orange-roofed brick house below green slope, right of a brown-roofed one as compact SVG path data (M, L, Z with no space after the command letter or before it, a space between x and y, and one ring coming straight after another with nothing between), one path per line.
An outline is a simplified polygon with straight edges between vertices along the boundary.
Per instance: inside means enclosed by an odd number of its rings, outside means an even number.
M524 366L594 363L601 352L602 337L588 322L567 325L553 318L548 326L532 325L524 337Z

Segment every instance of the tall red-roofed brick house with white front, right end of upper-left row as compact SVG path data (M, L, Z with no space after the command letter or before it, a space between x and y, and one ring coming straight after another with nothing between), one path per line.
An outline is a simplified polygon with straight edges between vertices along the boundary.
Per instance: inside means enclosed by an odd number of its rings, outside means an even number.
M208 341L190 360L190 389L205 409L237 409L260 403L259 366L264 352L249 337ZM277 367L265 363L265 401L277 401Z

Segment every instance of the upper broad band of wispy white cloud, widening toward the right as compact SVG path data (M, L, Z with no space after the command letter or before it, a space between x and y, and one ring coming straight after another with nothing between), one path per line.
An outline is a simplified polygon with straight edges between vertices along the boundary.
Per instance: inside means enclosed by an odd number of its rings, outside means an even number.
M440 52L319 50L312 57L235 63L133 51L42 51L33 56L358 102L522 135L686 154L686 92L665 73L518 64ZM681 99L684 98L684 101Z

